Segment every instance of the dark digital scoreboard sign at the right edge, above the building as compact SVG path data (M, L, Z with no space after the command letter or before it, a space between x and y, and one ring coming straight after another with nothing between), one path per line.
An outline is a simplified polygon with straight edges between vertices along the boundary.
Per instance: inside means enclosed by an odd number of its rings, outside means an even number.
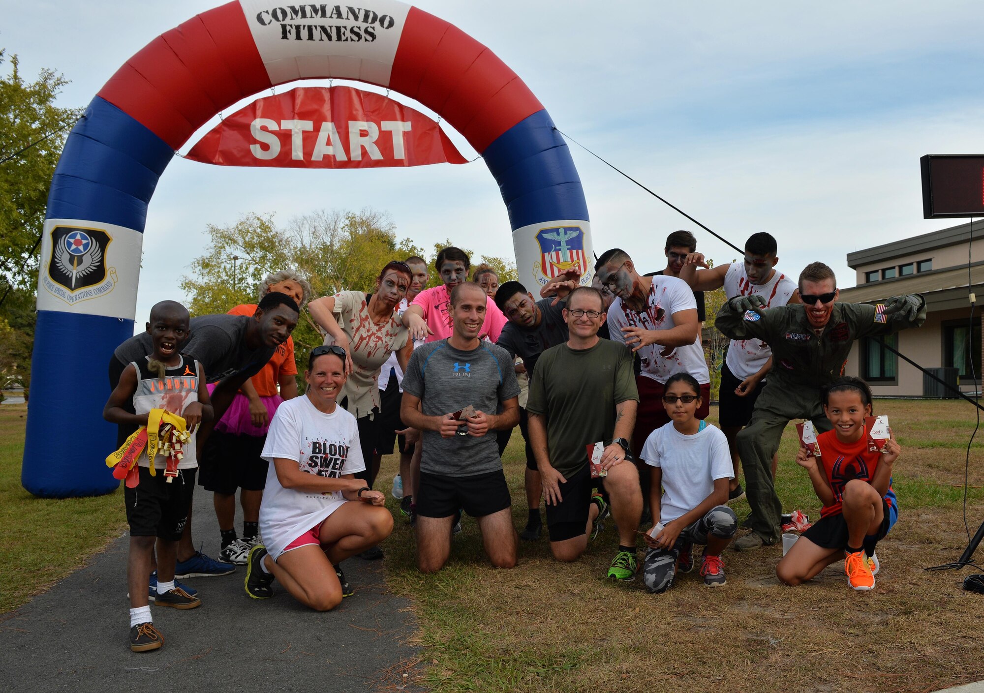
M984 217L984 155L928 154L919 161L923 219Z

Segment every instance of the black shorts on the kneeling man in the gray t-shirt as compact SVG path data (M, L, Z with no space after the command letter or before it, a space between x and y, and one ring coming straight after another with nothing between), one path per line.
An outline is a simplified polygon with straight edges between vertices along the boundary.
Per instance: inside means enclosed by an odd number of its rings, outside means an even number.
M472 476L421 472L413 499L417 515L425 518L446 518L460 508L471 517L480 518L513 505L502 470Z

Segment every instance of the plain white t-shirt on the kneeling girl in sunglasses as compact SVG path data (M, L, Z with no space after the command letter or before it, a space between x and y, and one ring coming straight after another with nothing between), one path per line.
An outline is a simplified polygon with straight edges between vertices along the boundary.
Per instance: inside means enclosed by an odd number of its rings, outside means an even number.
M649 434L640 457L646 465L662 469L659 521L663 525L699 506L714 490L716 479L734 477L727 438L710 424L694 435L684 435L670 421Z

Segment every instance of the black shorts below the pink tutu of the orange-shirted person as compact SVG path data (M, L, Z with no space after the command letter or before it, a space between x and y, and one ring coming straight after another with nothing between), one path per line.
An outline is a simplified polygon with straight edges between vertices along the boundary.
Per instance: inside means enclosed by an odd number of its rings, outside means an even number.
M198 482L207 491L231 495L237 488L262 491L270 463L260 457L267 436L212 431L199 462Z

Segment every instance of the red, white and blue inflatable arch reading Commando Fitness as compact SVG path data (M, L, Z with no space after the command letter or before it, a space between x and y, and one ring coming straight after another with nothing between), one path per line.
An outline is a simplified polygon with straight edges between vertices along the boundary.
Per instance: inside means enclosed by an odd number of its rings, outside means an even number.
M115 427L101 418L105 368L133 334L147 206L174 152L236 101L315 78L379 85L439 113L499 184L521 280L542 284L579 261L589 280L590 227L570 151L491 50L396 0L222 5L128 60L65 144L41 244L22 471L31 493L118 486L103 463L115 442Z

